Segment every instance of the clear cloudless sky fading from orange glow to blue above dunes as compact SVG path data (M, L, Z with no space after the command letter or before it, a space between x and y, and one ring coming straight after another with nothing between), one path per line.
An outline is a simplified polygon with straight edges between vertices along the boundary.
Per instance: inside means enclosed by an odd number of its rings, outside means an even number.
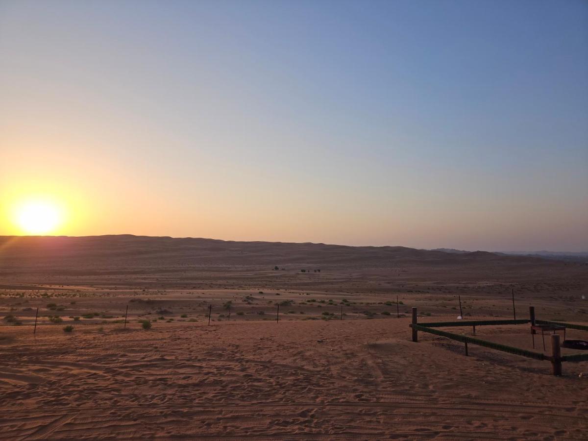
M0 97L0 235L588 250L586 1L0 0Z

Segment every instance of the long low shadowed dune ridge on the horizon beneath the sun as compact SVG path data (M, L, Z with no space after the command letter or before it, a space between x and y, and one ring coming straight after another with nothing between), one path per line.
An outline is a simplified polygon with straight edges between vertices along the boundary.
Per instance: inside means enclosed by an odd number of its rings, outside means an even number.
M0 236L4 269L35 266L88 268L98 266L169 267L178 265L363 266L411 265L549 265L536 257L496 253L446 252L403 246L346 246L324 243L234 242L202 238L133 235Z

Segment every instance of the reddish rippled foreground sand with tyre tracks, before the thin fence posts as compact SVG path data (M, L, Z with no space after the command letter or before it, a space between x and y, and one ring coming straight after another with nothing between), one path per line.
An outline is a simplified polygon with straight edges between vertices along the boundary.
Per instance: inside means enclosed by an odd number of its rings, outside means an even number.
M2 439L588 437L587 363L466 357L408 318L90 323L1 328ZM476 331L531 347L524 325Z

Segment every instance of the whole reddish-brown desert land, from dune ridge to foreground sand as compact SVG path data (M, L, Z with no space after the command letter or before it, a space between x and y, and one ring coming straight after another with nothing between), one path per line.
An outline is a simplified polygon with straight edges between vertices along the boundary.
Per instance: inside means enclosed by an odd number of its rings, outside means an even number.
M584 262L4 236L0 438L588 439L588 362L556 377L547 361L411 340L413 307L422 323L510 319L513 293L517 318L588 323ZM529 325L476 336L532 349Z

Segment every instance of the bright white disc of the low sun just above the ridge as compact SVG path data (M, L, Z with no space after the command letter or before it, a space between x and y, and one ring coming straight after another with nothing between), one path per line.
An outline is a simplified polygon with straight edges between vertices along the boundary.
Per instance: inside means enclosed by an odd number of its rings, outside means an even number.
M62 222L59 206L51 201L26 201L16 207L15 222L23 233L45 235Z

